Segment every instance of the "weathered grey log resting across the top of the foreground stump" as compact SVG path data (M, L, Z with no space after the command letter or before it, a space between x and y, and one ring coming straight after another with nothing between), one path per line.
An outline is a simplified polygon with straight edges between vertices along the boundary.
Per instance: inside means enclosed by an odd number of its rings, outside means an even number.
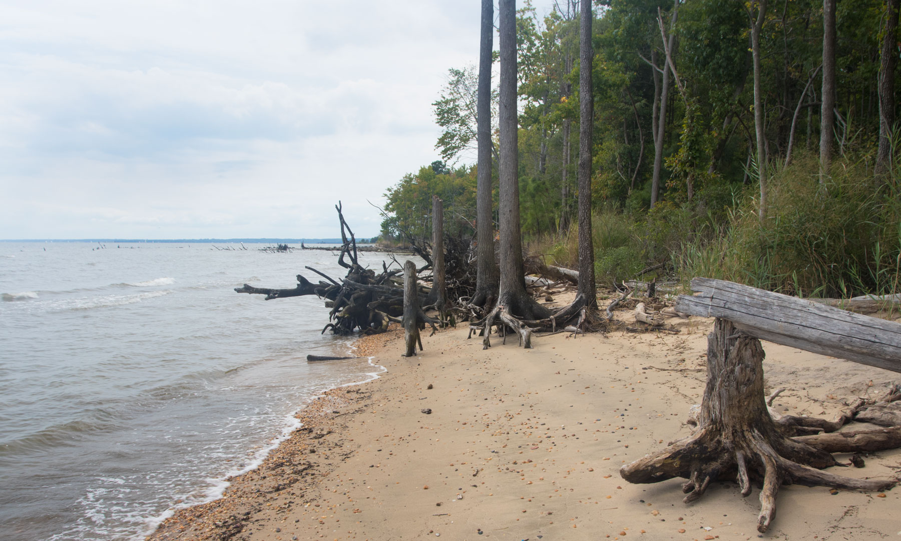
M695 278L676 310L733 321L770 342L901 372L901 325L747 285Z

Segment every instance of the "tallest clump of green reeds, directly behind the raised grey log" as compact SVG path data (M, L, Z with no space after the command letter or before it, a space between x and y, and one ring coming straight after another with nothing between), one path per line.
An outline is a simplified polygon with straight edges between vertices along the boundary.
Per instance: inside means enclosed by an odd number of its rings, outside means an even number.
M771 179L767 221L748 198L722 234L687 241L684 276L704 275L802 296L896 293L901 264L901 200L894 184L875 190L860 163L837 164L823 185L802 156Z

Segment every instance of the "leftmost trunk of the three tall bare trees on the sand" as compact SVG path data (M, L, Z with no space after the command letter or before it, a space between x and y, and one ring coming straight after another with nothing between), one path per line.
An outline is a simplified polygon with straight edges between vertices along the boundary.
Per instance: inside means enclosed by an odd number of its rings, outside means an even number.
M495 5L482 0L482 35L478 51L478 96L476 104L478 177L476 216L478 263L476 293L472 303L491 307L497 297L495 227L491 219L491 53L494 48Z

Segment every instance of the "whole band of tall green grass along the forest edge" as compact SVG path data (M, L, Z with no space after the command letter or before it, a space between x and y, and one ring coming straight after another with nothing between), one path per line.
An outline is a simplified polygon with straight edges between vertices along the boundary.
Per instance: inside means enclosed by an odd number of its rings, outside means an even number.
M862 160L837 159L822 183L818 170L815 156L798 155L790 167L772 171L762 223L755 190L728 185L683 206L597 209L597 282L637 277L662 264L644 277L669 275L687 285L707 276L814 297L901 293L901 166L879 179ZM551 264L578 264L576 228L530 248Z

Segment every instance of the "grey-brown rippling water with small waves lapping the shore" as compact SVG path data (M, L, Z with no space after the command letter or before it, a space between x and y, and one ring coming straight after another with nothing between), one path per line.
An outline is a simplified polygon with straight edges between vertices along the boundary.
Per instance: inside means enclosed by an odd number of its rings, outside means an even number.
M0 242L0 539L141 539L259 464L315 394L376 377L306 363L351 347L320 334L315 296L232 291L339 278L337 257L247 248Z

